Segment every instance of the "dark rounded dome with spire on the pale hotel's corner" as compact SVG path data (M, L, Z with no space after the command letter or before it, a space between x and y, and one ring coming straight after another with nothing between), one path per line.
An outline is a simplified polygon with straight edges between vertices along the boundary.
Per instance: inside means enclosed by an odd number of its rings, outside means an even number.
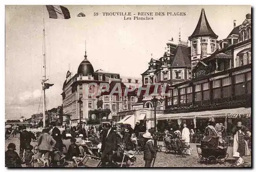
M87 55L84 55L83 61L80 63L77 69L77 76L79 80L93 80L94 69L93 65L87 59Z

